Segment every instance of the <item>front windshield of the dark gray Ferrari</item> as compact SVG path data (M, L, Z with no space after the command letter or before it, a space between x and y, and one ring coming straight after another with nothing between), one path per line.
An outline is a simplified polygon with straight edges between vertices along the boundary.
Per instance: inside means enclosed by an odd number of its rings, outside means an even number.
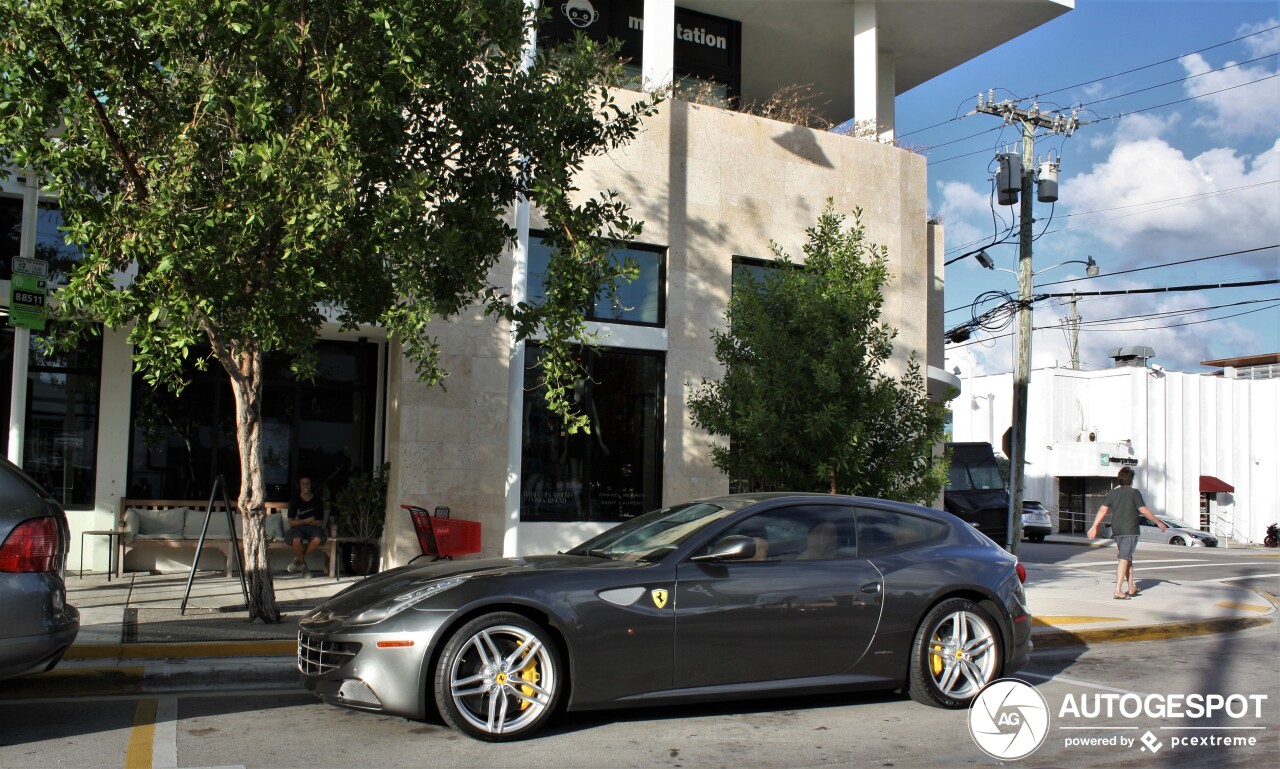
M614 560L658 560L703 527L733 513L739 507L694 502L662 508L620 523L568 553Z

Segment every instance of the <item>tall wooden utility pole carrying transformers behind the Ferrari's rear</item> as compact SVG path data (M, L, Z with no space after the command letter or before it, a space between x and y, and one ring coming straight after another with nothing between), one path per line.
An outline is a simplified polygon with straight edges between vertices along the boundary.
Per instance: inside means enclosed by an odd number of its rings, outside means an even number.
M1023 156L1021 168L1019 169L1021 183L1018 187L1021 193L1018 230L1018 354L1014 361L1014 425L1009 457L1009 534L1005 543L1005 549L1018 555L1019 545L1023 540L1023 494L1027 464L1027 392L1030 384L1032 370L1032 225L1036 223L1032 212L1032 184L1036 180L1036 131L1044 129L1050 133L1065 133L1070 136L1079 125L1079 122L1074 114L1070 118L1042 115L1039 106L1036 104L1032 105L1032 109L1024 110L1019 109L1012 101L1001 101L997 104L991 95L983 99L980 93L978 95L978 111L1001 116L1009 125L1018 123L1023 132ZM1010 186L1012 182L1012 179L1007 180ZM1056 187L1055 179L1052 197L1044 197L1044 200L1057 200ZM1011 192L1011 188L1000 192L1001 197L1007 200L1006 194ZM1001 200L1001 202L1005 202L1005 200ZM1007 202L1012 203L1011 200Z

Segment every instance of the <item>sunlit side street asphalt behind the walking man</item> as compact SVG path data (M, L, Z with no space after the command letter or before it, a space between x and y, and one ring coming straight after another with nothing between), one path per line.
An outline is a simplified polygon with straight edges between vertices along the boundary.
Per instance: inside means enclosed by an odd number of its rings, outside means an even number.
M1056 543L1023 543L1019 558L1091 573L1112 575L1114 546L1082 548ZM1139 543L1134 558L1139 585L1219 581L1280 596L1280 551L1257 548L1178 548Z

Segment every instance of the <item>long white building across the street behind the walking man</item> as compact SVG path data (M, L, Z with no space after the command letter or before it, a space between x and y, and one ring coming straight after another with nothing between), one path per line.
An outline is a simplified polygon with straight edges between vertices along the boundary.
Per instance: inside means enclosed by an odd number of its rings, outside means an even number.
M1116 352L1133 349L1149 351ZM1270 362L1258 363L1263 358ZM1060 511L1060 531L1079 532L1129 464L1156 513L1219 539L1261 543L1280 521L1280 379L1247 376L1277 361L1204 362L1225 366L1228 376L1140 360L1101 371L1033 370L1024 496ZM989 441L998 452L1012 422L1012 386L1011 374L961 376L954 439Z

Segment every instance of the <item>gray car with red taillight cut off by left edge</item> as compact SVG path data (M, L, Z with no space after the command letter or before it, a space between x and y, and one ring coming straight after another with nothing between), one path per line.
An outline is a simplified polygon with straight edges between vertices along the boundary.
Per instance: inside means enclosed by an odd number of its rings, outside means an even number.
M79 632L67 605L67 513L0 458L0 681L50 670Z

